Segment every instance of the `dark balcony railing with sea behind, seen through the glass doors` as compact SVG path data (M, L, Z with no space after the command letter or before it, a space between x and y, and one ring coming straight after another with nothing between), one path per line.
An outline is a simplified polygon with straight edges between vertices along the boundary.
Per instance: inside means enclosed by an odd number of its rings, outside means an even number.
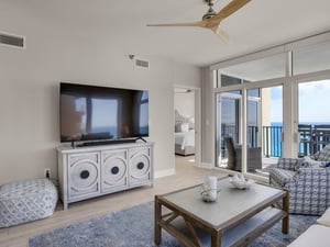
M264 157L282 157L282 126L262 126L262 147ZM312 155L330 144L330 124L299 124L298 157ZM222 124L222 136L232 136L238 143L239 132L234 125ZM248 127L248 144L250 147L257 147L258 127Z

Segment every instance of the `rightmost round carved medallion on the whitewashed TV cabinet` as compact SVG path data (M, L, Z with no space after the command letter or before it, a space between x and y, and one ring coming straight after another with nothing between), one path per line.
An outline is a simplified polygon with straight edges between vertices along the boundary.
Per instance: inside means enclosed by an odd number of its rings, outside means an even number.
M150 171L150 159L145 154L136 154L130 161L130 173L133 178L143 178Z

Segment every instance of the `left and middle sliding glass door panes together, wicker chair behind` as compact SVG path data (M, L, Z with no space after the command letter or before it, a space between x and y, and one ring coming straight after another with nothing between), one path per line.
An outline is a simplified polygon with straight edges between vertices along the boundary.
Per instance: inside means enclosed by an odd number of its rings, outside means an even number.
M282 157L282 86L274 86L248 89L245 98L241 90L217 93L218 167L262 175L267 165ZM245 117L243 105L246 105ZM242 131L244 126L246 131ZM245 156L242 151L244 139Z

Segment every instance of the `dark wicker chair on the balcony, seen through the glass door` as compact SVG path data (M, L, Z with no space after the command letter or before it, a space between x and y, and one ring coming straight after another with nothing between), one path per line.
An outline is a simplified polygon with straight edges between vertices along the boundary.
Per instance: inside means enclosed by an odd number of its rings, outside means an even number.
M242 170L242 146L234 145L232 137L224 137L228 162L227 167L231 170ZM248 148L248 171L255 171L255 169L262 169L262 148L249 147Z

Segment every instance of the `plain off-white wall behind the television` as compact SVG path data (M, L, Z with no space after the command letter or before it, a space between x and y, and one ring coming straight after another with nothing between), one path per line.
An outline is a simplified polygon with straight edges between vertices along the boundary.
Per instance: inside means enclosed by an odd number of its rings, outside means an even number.
M200 87L200 69L134 50L151 61L150 70L138 69L128 58L129 43L122 45L110 30L82 29L18 7L0 2L0 31L26 36L26 49L0 46L0 184L43 177L47 167L57 177L61 81L147 89L156 175L173 170L173 88Z

